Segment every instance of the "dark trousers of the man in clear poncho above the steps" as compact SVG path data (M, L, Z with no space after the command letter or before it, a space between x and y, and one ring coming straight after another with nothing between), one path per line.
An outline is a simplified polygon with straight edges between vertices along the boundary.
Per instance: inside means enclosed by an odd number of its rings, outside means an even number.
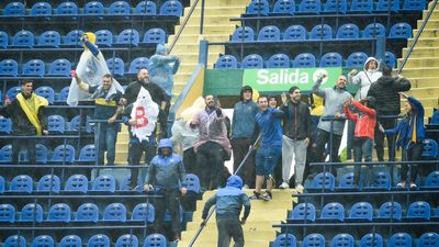
M207 142L196 150L196 176L203 189L217 189L224 178L224 149L215 142Z

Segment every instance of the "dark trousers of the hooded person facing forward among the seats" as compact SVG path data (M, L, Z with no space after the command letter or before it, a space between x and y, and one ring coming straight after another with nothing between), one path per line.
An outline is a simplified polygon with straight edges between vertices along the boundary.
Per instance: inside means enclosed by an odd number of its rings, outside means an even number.
M164 228L164 217L168 210L171 215L172 232L180 233L180 190L160 190L162 198L155 198L154 204L156 209L155 231L166 236Z

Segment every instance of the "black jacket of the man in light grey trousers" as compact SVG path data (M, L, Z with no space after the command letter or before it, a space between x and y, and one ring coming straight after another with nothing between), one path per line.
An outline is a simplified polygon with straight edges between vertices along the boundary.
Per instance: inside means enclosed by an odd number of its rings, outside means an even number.
M292 139L305 139L311 137L311 114L306 103L299 101L293 103L288 101L286 105L282 104L283 115L283 134Z

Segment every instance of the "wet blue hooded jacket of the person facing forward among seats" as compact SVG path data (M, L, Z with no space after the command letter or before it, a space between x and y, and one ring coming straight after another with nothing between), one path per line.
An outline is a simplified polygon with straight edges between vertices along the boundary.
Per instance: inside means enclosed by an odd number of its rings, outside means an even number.
M165 147L171 148L171 153L167 156L161 154ZM172 153L172 143L170 139L160 139L158 145L158 155L156 155L150 165L149 172L145 183L153 184L158 189L178 189L184 183L185 170L180 156Z

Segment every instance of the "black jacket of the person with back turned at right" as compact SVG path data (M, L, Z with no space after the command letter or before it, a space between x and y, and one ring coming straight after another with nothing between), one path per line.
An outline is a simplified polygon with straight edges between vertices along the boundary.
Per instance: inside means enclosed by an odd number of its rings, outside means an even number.
M375 98L376 114L397 115L401 113L401 101L398 92L410 90L410 81L405 78L380 77L371 85L368 97Z

